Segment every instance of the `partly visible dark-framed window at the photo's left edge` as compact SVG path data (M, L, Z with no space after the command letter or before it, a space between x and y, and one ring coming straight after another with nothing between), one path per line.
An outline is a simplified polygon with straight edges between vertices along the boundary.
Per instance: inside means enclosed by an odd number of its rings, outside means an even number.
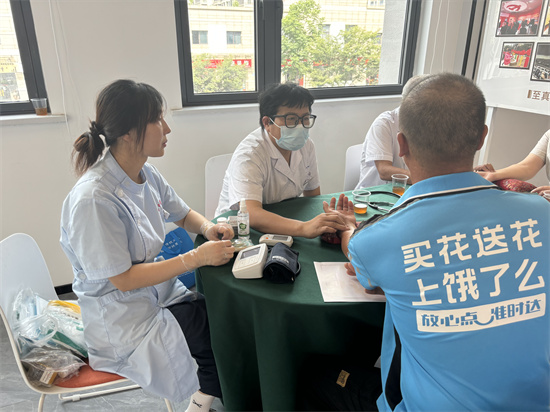
M29 0L0 0L0 113L34 113L46 97Z

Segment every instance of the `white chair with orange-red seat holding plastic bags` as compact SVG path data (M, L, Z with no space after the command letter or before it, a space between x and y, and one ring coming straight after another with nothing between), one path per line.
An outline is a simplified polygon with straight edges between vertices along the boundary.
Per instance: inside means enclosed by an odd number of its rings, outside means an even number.
M122 376L94 371L88 365L80 369L78 376L63 382L63 387L56 385L52 387L39 386L29 381L21 364L18 343L13 333L14 325L12 324L14 299L19 291L25 287L31 288L33 292L46 300L58 299L50 272L38 245L29 235L16 233L0 242L0 315L6 327L21 377L29 388L41 394L38 402L39 412L44 407L46 395L57 394L59 399L63 401L76 402L93 396L139 388L139 385L133 384ZM124 382L130 383L130 385L119 385ZM115 387L115 385L117 386ZM91 390L93 392L89 392ZM81 391L87 392L76 393ZM68 394L72 395L64 396ZM165 402L168 411L172 412L170 401L165 399Z

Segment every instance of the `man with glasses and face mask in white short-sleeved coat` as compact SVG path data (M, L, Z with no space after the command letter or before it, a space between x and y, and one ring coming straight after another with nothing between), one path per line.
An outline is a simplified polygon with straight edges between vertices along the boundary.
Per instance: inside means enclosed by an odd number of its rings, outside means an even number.
M311 93L294 83L274 84L259 99L260 127L235 149L223 179L216 216L246 200L250 227L264 232L314 238L344 227L334 213L302 222L264 210L264 204L321 194L315 146L309 129Z

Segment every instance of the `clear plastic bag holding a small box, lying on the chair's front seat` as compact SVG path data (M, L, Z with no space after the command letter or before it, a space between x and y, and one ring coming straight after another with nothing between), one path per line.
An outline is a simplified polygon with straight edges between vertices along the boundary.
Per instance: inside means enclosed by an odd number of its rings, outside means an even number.
M34 348L21 358L30 382L50 387L78 373L85 365L68 350Z

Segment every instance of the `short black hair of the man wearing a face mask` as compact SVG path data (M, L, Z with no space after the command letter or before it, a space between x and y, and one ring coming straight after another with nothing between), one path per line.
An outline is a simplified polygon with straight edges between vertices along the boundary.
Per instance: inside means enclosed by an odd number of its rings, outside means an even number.
M259 96L260 126L263 129L262 119L264 116L275 116L281 106L299 108L307 106L311 110L314 100L308 89L295 83L271 84Z

